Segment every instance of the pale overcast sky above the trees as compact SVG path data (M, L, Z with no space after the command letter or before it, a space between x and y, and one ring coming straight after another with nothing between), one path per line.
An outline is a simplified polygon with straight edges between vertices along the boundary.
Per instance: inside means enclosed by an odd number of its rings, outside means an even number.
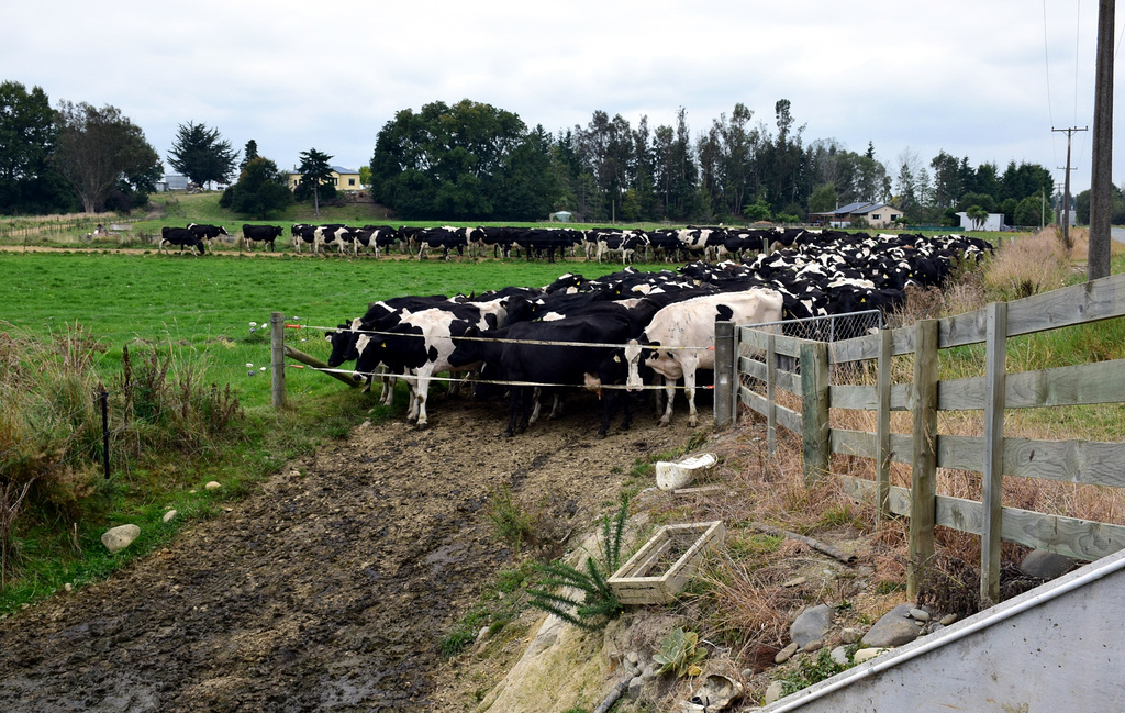
M806 143L862 153L874 142L892 174L903 150L927 165L945 150L1001 172L1038 163L1062 182L1066 141L1051 129L1092 128L1097 4L6 2L0 80L39 85L53 106L118 107L165 168L189 120L237 150L255 139L282 169L310 147L358 169L396 111L438 100L490 103L552 134L594 110L673 125L684 107L694 137L737 102L774 128L785 98ZM1090 184L1090 133L1076 134L1076 193Z

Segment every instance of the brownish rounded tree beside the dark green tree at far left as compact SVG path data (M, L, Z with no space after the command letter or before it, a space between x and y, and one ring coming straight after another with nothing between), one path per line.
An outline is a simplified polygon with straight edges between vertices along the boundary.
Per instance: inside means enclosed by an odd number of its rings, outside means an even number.
M101 209L115 187L151 190L163 171L144 133L116 107L98 109L63 101L55 129L51 161L78 192L87 213Z

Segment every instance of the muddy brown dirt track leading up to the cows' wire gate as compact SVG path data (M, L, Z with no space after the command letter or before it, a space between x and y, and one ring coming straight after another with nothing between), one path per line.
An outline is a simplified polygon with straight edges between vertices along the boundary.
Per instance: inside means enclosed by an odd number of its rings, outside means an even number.
M0 622L0 711L464 710L438 644L511 561L489 494L582 531L637 458L692 434L646 409L598 441L585 397L503 440L502 410L450 398L424 432L361 426L171 548Z

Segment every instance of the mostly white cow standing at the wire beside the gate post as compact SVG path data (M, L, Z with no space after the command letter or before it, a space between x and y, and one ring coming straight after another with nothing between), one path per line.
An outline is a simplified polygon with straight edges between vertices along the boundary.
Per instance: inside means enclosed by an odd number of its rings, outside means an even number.
M641 333L626 346L629 362L628 387L640 388L640 355L646 353L645 365L664 377L667 405L660 425L672 421L672 401L676 381L684 379L687 423L695 426L695 370L714 369L714 323L734 322L737 325L777 322L782 314L781 292L755 288L744 292L705 295L664 307ZM651 346L686 349L648 349Z

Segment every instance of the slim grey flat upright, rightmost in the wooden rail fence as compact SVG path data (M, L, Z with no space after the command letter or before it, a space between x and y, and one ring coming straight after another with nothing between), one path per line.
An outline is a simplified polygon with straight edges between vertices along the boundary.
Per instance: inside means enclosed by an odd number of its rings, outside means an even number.
M1004 405L1008 303L988 306L984 354L984 466L981 523L981 599L1000 601L1000 533L1004 525Z

